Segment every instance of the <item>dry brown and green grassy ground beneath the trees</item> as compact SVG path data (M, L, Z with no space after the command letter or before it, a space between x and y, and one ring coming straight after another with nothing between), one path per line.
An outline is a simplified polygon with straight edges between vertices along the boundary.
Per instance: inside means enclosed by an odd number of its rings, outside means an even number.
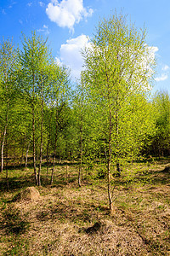
M37 200L14 201L34 185L33 170L0 174L0 255L170 255L170 170L167 160L133 164L112 177L109 213L103 166L77 185L76 165L55 167L54 185Z

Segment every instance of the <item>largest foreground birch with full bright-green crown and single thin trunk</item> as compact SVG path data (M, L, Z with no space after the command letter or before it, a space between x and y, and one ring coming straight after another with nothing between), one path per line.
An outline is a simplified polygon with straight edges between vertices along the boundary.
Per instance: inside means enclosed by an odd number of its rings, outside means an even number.
M101 20L91 47L83 52L83 74L89 99L94 104L94 129L100 141L105 142L111 212L111 162L116 164L120 174L120 160L133 150L133 143L127 141L134 142L137 139L132 124L140 129L137 112L144 119L142 102L146 102L143 99L150 90L154 65L149 54L145 31L138 31L127 23L123 15Z

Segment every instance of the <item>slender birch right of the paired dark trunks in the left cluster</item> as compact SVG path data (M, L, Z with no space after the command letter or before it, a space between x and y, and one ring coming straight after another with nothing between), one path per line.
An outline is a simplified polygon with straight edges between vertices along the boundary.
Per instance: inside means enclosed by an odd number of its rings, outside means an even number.
M49 67L49 87L48 87L48 110L50 110L51 120L50 127L48 126L48 131L50 132L48 136L51 140L52 148L54 148L54 160L53 160L53 169L51 174L51 181L54 180L54 166L57 153L57 142L59 139L59 125L61 121L61 116L65 112L65 106L69 101L69 91L70 91L70 73L65 67L59 67L56 64L53 64ZM53 132L53 134L51 134Z

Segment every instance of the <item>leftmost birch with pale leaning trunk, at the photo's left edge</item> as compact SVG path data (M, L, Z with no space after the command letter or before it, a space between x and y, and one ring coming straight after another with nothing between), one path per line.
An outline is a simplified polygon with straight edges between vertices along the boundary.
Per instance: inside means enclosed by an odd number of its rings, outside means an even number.
M3 172L3 149L8 125L11 124L15 102L16 49L12 41L0 45L0 119L1 119L1 172Z

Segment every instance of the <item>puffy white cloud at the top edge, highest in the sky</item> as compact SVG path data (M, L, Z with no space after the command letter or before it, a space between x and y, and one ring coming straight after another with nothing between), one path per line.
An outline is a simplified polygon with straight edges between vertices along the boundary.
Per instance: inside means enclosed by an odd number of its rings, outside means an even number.
M79 23L82 18L93 14L93 9L83 7L82 0L51 0L48 3L46 13L51 21L54 21L60 27L68 27L71 30L75 23Z

